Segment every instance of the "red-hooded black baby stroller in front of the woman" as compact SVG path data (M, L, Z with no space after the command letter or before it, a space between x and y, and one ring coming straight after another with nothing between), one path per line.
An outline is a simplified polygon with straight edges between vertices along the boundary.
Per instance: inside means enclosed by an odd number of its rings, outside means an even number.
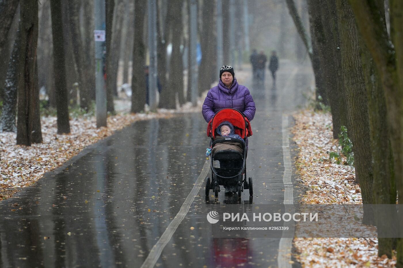
M219 137L218 125L228 121L233 124L235 134L243 138ZM249 120L236 109L226 108L218 111L208 123L207 135L212 139L211 152L211 180L206 181L206 196L210 190L214 191L216 198L220 192L220 186L235 186L238 197L241 197L243 189L249 189L249 195L253 195L252 178L246 180L246 137L252 135ZM218 138L219 137L219 138Z

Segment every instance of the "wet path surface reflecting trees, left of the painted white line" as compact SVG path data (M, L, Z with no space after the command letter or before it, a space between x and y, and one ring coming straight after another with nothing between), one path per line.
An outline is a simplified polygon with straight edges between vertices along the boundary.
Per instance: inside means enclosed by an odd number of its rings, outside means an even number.
M0 203L3 266L142 263L201 171L204 128L199 114L137 122Z

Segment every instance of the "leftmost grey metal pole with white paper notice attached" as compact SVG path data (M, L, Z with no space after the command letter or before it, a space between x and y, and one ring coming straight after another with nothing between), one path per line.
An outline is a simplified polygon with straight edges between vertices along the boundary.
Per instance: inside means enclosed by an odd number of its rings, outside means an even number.
M105 0L95 0L95 87L97 128L106 126L106 87L104 80L105 66ZM108 37L109 38L109 37Z

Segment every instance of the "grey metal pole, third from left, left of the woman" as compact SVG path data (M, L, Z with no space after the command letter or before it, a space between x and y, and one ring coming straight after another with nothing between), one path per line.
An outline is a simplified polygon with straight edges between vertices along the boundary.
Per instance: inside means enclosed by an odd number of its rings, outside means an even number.
M199 77L199 66L197 65L197 2L190 1L190 59L191 59L191 101L192 105L197 105L197 82Z

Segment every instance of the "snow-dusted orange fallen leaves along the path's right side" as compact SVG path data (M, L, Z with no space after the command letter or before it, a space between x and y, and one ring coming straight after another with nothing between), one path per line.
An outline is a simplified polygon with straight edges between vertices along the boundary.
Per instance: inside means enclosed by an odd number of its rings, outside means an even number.
M293 140L298 145L295 159L299 181L307 186L302 204L362 204L355 169L329 161L329 152L337 152L332 135L330 113L302 110L293 115ZM340 148L339 148L340 149ZM297 225L296 232L304 232ZM373 238L294 238L295 258L303 267L395 267L396 257L378 257L376 227ZM297 236L297 235L296 235Z

